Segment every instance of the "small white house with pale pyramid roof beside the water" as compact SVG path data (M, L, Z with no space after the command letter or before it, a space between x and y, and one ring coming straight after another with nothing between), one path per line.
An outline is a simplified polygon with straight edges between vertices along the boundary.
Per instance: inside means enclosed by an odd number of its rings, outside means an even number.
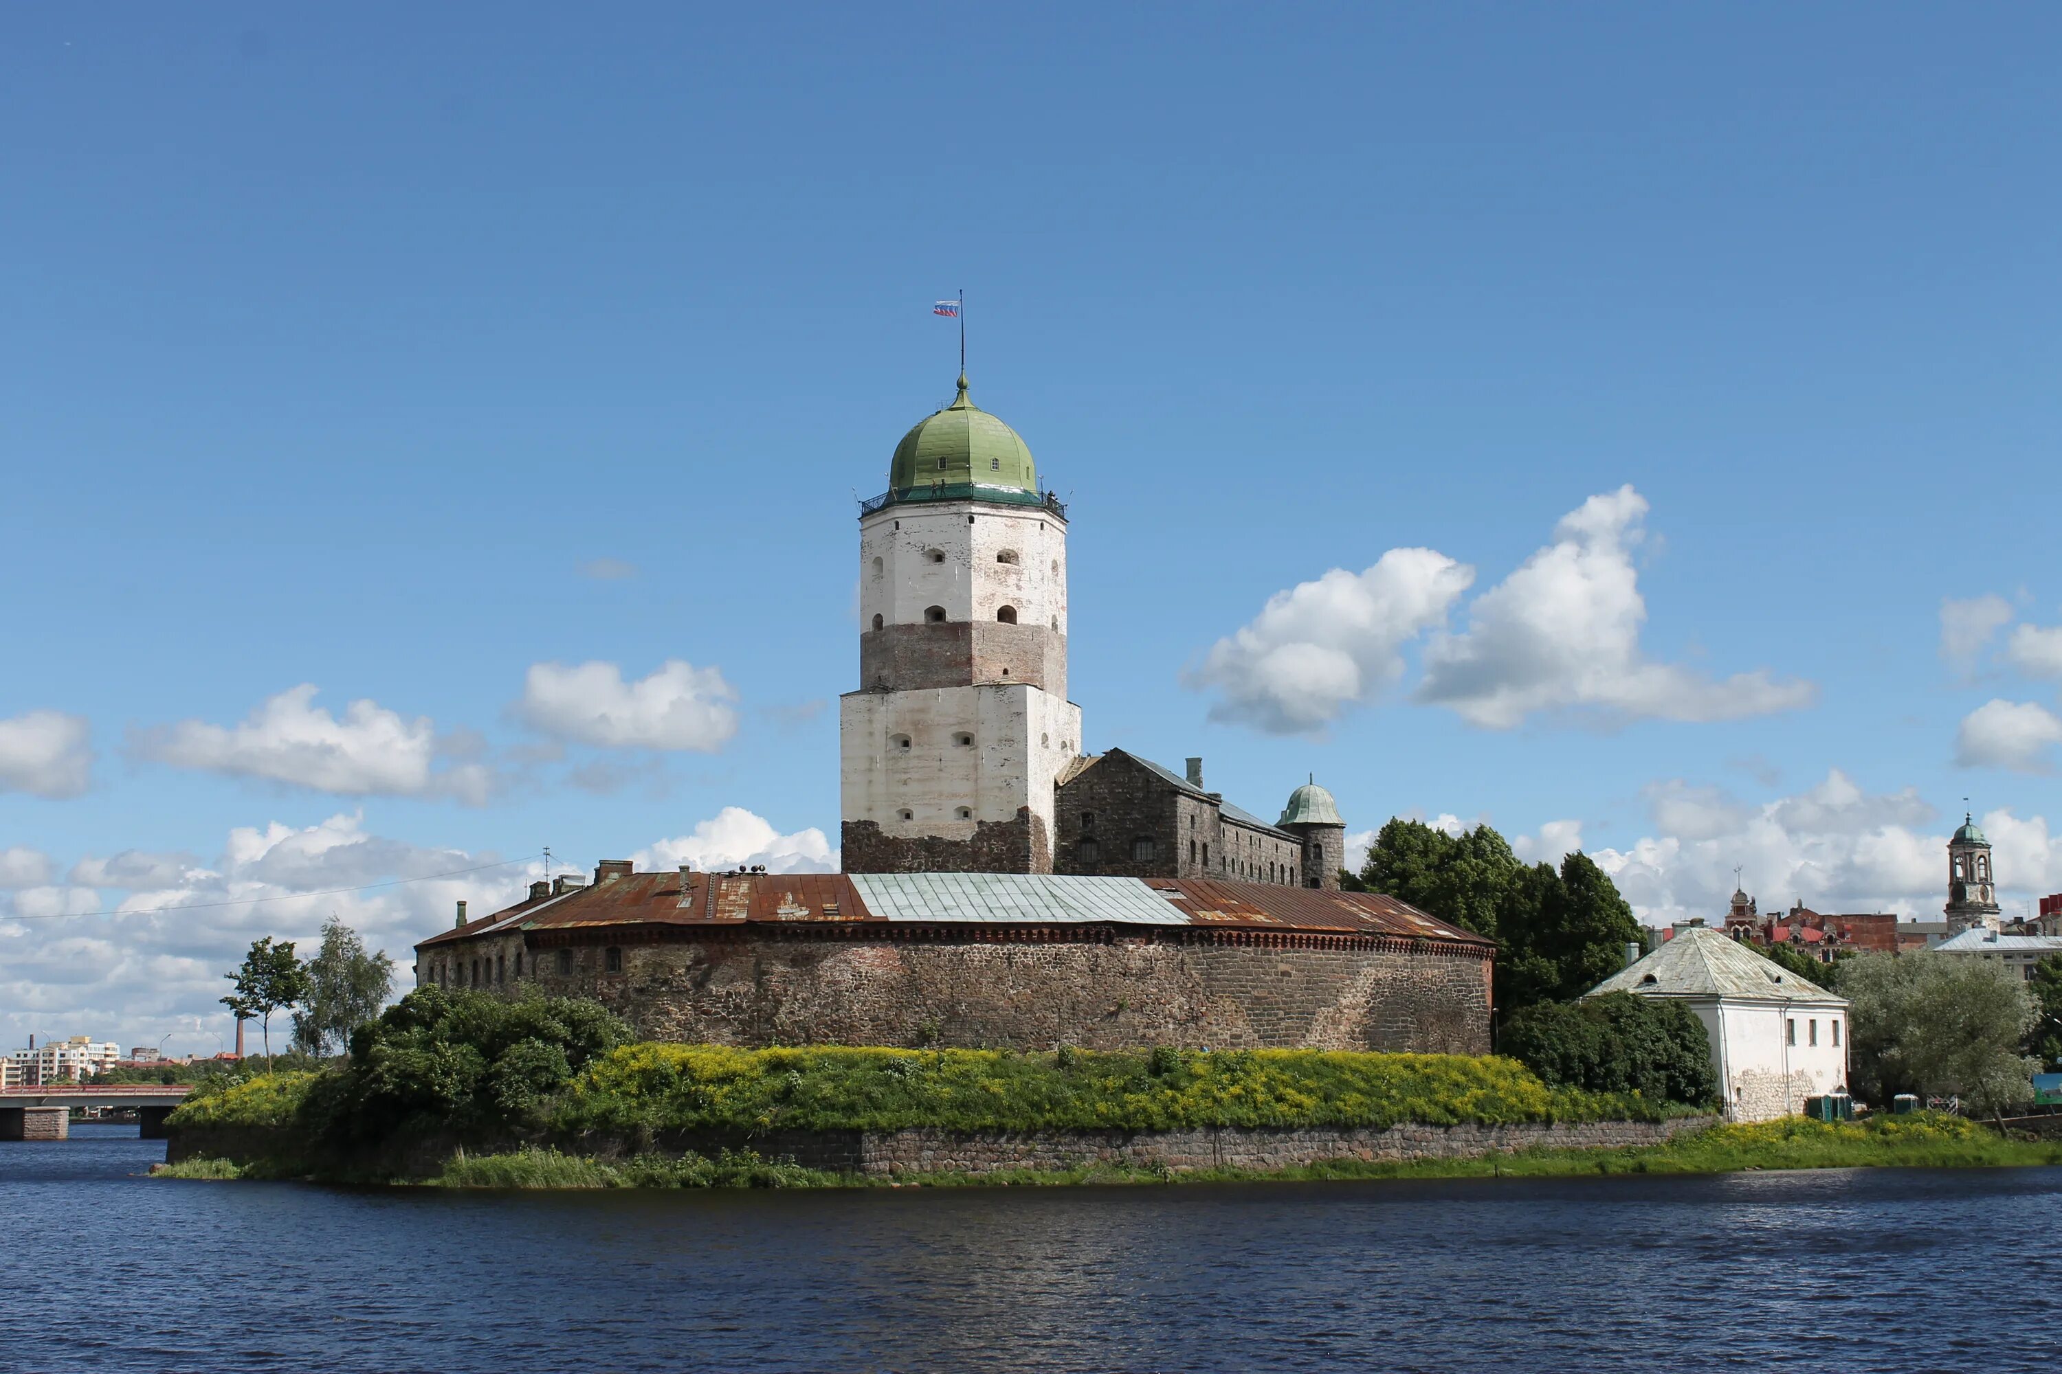
M1848 999L1755 954L1742 937L1701 925L1674 937L1588 997L1631 993L1681 1001L1711 1040L1730 1121L1773 1121L1804 1100L1848 1090Z

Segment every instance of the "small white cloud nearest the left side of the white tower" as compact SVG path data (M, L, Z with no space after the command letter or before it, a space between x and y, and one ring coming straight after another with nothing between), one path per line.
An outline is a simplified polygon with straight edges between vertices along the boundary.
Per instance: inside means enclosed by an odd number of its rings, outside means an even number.
M614 663L532 663L516 709L546 735L579 744L713 752L738 731L736 698L720 669L680 659L637 682Z

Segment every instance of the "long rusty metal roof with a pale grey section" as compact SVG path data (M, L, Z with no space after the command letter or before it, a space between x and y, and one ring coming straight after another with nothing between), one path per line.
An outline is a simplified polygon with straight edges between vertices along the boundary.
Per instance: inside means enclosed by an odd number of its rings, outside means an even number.
M685 900L683 900L685 896ZM524 900L421 948L489 931L751 923L1155 925L1386 935L1485 946L1481 935L1375 892L1215 878L1068 873L627 873Z

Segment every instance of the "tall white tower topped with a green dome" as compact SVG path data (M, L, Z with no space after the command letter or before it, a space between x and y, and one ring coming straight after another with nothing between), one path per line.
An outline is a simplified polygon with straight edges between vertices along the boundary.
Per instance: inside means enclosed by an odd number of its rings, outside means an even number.
M959 398L860 507L860 690L839 700L852 873L1050 873L1066 700L1066 507L1031 449Z

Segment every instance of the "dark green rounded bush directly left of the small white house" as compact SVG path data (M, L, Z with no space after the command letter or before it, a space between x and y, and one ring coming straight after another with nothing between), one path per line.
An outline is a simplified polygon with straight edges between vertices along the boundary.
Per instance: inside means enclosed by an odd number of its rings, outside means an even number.
M1514 1014L1497 1049L1557 1088L1637 1092L1693 1106L1718 1098L1711 1040L1681 1001L1631 993L1544 1001Z

